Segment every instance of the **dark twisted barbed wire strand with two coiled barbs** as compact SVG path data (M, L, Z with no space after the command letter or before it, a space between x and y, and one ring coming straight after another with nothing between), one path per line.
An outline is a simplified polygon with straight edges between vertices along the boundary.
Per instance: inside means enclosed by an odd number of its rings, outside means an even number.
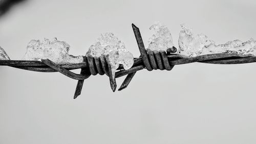
M136 72L146 68L151 71L153 69L160 70L172 70L175 65L187 64L187 63L211 63L211 64L242 64L256 62L256 57L252 55L239 55L239 54L208 54L197 57L186 57L183 55L175 54L177 49L170 47L167 53L164 51L151 51L145 50L143 40L139 31L134 24L132 24L133 31L137 40L137 44L140 50L140 57L134 59L134 65L132 68L124 70L120 65L118 71L115 73L115 78L126 76L122 85L118 90L126 88ZM69 78L78 80L77 87L74 94L74 99L81 93L83 81L89 78L91 75L97 74L108 76L110 78L110 85L113 91L116 90L116 80L112 78L110 64L104 57L84 57L82 63L58 65L49 59L42 59L41 61L21 61L21 60L0 60L0 65L11 66L15 68L39 71L39 72L59 72ZM73 73L72 69L81 69L80 74Z

